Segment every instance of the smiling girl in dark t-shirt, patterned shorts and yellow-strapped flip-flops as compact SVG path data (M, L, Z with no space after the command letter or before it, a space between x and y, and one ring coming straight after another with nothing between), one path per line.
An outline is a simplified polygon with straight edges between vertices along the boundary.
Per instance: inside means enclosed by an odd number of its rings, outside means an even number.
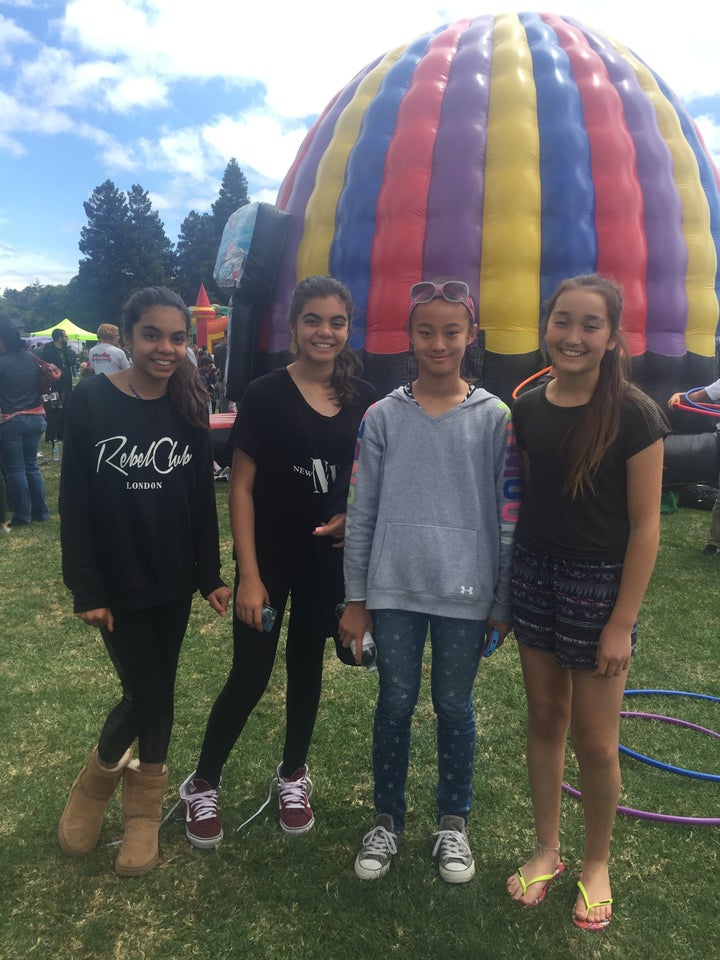
M565 870L560 796L571 727L585 817L573 922L585 930L611 919L620 706L658 548L669 432L657 405L629 383L621 317L613 281L593 274L561 283L541 328L554 379L513 407L524 489L512 612L537 842L507 887L534 907Z

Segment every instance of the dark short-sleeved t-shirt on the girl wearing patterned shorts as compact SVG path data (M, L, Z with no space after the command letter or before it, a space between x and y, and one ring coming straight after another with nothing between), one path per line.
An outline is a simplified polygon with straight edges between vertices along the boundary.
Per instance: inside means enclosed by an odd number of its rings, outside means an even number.
M621 562L630 533L626 462L667 436L670 428L645 394L639 394L641 406L625 399L618 436L593 477L594 492L586 490L573 500L562 489L567 471L563 441L585 407L555 406L545 390L530 390L513 406L517 444L530 463L517 539L554 556Z

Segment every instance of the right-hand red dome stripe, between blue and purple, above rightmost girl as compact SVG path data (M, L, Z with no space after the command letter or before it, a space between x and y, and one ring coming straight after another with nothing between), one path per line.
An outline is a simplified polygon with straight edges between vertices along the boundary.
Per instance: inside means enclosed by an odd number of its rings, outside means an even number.
M647 244L635 145L622 101L605 65L582 33L552 14L543 15L572 67L585 116L595 186L597 272L622 285L623 330L632 356L645 353Z

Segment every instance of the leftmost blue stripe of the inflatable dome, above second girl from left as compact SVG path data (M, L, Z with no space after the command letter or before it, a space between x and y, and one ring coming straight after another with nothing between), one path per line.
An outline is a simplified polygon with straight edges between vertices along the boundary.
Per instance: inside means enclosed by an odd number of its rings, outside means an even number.
M365 345L367 312L363 305L370 299L370 263L385 155L402 99L433 36L426 34L414 41L390 67L368 104L360 135L348 157L330 248L330 272L347 283L356 305L350 334L353 350Z

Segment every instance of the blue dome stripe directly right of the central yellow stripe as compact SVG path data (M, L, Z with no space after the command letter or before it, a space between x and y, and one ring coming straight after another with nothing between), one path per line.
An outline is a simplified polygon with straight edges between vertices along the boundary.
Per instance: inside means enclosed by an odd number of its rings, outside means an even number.
M597 265L595 186L582 101L567 54L538 14L520 14L533 62L540 137L540 300Z

